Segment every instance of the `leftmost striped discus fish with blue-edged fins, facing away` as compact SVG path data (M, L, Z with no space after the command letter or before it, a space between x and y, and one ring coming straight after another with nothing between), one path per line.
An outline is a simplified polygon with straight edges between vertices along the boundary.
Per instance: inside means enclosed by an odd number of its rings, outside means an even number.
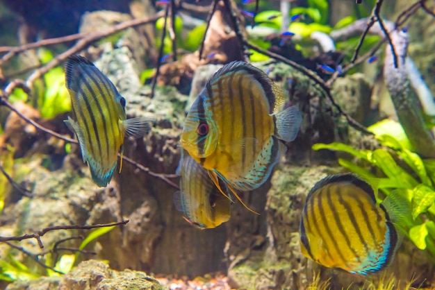
M69 56L65 62L65 85L72 101L75 120L65 124L77 137L92 180L106 187L117 166L117 154L124 152L124 136L142 137L152 118L126 119L126 99L90 60Z

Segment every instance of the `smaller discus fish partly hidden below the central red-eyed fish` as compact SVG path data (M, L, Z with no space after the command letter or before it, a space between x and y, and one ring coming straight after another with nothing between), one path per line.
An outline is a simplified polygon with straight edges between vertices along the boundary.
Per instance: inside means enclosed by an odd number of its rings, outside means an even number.
M186 151L182 151L177 169L180 189L174 194L174 205L191 225L216 228L230 218L231 200L220 194L207 170Z

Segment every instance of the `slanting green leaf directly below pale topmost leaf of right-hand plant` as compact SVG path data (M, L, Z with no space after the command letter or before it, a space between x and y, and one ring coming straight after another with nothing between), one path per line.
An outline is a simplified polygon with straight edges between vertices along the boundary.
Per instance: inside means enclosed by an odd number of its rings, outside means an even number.
M388 151L384 149L376 149L371 156L372 164L382 169L388 178L395 180L397 188L413 188L418 185L417 180L404 171L402 167L397 165Z

